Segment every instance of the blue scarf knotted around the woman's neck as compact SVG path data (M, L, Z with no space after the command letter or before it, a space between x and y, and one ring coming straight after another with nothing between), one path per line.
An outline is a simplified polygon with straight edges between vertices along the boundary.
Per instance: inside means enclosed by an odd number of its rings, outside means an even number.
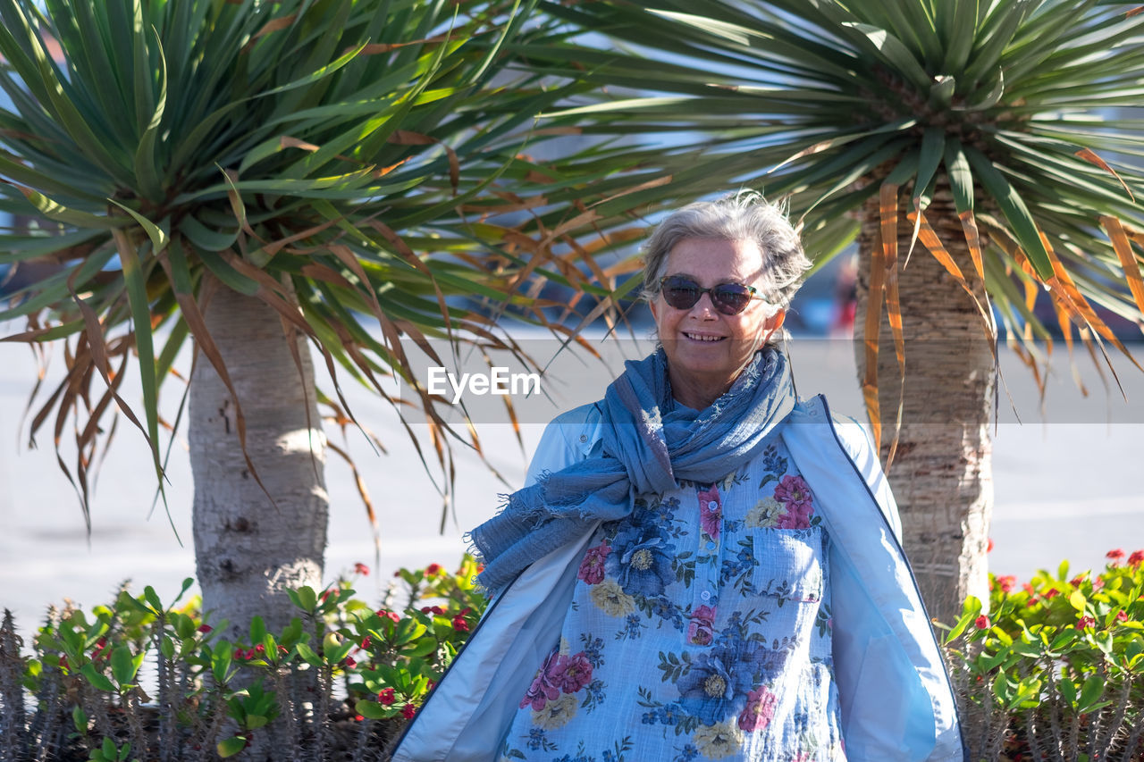
M793 406L786 357L774 349L756 352L702 411L674 404L662 349L628 360L604 395L603 454L543 474L469 532L485 564L478 582L496 593L596 522L630 514L637 494L664 494L677 479L717 482L750 460Z

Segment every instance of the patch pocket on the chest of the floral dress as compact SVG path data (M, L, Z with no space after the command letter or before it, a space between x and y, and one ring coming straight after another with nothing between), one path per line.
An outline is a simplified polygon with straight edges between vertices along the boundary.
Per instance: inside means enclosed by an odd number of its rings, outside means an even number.
M823 598L823 530L752 529L757 565L752 584L758 595L786 601ZM781 601L779 602L781 605Z

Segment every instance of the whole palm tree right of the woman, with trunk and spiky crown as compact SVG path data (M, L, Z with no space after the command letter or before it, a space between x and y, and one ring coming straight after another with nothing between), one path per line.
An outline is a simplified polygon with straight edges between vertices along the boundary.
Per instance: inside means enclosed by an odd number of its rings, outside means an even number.
M534 51L538 68L607 88L561 117L674 143L656 153L677 196L744 184L788 199L819 265L857 239L867 412L930 613L952 621L967 594L985 597L994 313L1035 368L1041 292L1070 350L1074 336L1122 349L1097 308L1144 312L1144 176L1127 164L1144 122L1103 116L1144 96L1144 14L1098 0L546 8L571 38L594 34Z

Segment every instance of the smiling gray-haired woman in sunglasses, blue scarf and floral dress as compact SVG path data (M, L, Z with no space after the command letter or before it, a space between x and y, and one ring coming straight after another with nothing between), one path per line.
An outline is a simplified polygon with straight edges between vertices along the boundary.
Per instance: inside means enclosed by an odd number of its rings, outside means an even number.
M395 760L963 757L876 454L776 347L808 267L755 193L660 223L660 347L471 532L494 601Z

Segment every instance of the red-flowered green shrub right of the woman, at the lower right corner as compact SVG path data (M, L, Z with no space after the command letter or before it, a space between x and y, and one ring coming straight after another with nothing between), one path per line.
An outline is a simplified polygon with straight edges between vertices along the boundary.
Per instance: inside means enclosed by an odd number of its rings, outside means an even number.
M966 602L945 642L974 760L1144 760L1144 550L1107 559Z

